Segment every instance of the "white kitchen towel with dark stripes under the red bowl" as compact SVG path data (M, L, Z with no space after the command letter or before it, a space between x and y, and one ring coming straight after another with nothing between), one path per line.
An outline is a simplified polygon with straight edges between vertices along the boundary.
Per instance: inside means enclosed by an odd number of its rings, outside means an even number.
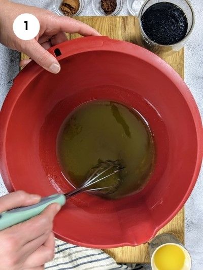
M48 270L144 270L141 264L118 264L100 249L83 248L55 239L55 257L45 264Z

